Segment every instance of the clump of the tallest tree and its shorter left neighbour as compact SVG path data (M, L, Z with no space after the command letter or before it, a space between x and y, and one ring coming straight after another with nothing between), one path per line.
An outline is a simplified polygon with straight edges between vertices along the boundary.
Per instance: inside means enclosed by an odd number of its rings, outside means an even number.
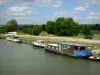
M72 18L58 18L55 22L48 21L46 31L59 36L78 35L80 26Z

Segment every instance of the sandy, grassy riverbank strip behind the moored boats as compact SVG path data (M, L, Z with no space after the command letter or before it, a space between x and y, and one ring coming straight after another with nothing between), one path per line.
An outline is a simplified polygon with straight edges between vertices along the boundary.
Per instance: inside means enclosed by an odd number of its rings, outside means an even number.
M26 44L32 44L33 41L44 39L48 43L57 43L57 42L73 42L73 43L83 43L92 45L92 49L100 49L100 40L87 40L80 38L71 38L71 37L59 37L59 36L34 36L34 35L17 35L23 40ZM6 38L6 34L1 34L0 37Z

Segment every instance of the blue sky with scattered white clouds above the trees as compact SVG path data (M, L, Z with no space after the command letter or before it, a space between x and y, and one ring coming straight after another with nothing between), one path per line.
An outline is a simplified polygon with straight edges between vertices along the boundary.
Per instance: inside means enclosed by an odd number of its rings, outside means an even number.
M45 24L59 17L79 24L100 23L100 0L0 0L0 24Z

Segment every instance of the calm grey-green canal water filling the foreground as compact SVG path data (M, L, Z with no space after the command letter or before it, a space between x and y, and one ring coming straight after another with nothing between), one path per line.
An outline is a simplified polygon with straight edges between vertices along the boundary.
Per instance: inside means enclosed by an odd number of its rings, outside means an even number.
M100 62L0 40L0 75L100 75Z

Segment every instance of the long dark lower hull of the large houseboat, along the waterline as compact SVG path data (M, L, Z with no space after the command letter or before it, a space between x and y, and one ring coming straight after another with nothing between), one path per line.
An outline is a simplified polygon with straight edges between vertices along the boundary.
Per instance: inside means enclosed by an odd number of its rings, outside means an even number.
M69 56L69 57L72 57L72 58L82 58L82 59L88 59L89 58L89 56L73 56L72 54L66 54L64 52L58 52L58 51L50 50L50 49L47 49L47 48L45 48L45 51L60 54L60 55L63 55L63 56Z

